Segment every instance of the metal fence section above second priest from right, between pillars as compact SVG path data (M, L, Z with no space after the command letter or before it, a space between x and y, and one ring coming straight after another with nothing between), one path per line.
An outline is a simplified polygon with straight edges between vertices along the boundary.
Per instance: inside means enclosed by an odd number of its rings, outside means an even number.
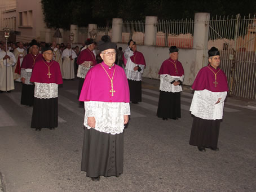
M194 21L192 19L159 20L157 23L156 46L192 48Z

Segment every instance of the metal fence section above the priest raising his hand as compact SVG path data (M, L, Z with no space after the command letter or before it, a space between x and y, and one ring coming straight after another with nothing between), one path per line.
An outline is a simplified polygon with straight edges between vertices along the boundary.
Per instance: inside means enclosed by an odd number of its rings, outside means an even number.
M130 39L136 44L144 44L145 20L142 21L123 21L122 24L122 43L129 42Z

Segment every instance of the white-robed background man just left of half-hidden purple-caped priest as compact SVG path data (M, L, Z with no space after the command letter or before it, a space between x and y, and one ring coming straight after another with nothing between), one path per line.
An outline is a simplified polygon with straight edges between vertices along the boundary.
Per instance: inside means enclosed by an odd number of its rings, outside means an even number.
M74 59L77 57L76 52L74 52L70 46L67 44L67 48L62 53L63 61L63 79L74 80Z

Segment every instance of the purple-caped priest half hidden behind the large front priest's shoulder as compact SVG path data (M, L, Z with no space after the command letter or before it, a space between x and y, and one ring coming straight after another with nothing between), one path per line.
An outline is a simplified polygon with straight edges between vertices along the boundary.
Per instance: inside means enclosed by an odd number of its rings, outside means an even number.
M85 76L89 69L97 64L94 52L92 52L95 48L95 42L93 39L86 39L85 44L87 48L83 50L77 59L78 70L77 77L79 79L78 83L78 99L80 97L80 93L82 90L83 82L85 81ZM83 104L83 103L82 103ZM83 107L83 105L82 105Z

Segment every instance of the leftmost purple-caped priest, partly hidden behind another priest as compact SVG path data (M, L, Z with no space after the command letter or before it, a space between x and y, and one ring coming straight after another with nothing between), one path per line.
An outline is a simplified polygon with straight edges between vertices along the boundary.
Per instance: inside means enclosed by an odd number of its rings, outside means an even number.
M32 70L37 61L42 60L42 54L39 53L37 42L30 43L31 52L26 55L21 64L21 105L32 106L34 103L34 83L30 82Z

